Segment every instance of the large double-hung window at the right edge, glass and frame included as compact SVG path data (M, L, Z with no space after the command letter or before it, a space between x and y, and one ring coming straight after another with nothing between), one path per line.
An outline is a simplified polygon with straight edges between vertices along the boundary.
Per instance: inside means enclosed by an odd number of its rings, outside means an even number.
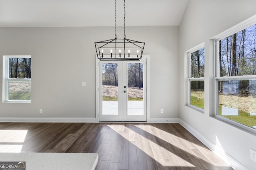
M256 20L215 39L216 117L256 132Z

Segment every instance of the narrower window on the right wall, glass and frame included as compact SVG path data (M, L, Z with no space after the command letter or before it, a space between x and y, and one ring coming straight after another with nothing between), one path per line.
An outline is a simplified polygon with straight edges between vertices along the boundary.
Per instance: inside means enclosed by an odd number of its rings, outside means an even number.
M204 110L204 43L188 54L188 106Z

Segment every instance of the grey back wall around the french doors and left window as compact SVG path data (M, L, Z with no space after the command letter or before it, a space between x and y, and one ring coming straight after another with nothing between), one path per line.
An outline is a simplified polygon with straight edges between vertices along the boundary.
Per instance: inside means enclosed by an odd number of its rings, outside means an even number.
M123 37L123 27L117 28L117 35ZM179 86L173 83L178 79L178 36L178 26L126 27L126 38L146 42L144 54L150 54L152 118L179 117ZM2 27L0 37L0 56L32 56L31 104L0 102L0 121L11 120L6 117L95 118L94 42L114 38L114 27ZM0 75L2 64L1 57ZM82 87L82 82L87 86ZM0 88L2 95L2 78Z

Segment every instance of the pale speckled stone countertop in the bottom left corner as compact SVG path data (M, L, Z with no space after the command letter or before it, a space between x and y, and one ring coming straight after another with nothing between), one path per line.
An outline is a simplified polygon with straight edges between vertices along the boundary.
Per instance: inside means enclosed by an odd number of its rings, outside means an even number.
M0 153L0 162L26 162L26 170L94 170L96 153Z

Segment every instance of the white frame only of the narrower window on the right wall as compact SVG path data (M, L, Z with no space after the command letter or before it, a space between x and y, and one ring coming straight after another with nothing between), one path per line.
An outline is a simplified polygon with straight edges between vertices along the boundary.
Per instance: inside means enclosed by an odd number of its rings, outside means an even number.
M188 71L187 71L187 83L188 83L187 84L187 95L188 95L187 96L187 106L192 107L193 109L196 109L196 110L204 113L204 109L190 104L191 82L192 81L204 81L204 77L198 77L198 78L191 77L191 53L194 53L195 51L198 51L202 48L205 49L204 43L201 43L201 44L197 45L196 47L186 51L187 64L188 64L187 65L187 68L188 68Z

